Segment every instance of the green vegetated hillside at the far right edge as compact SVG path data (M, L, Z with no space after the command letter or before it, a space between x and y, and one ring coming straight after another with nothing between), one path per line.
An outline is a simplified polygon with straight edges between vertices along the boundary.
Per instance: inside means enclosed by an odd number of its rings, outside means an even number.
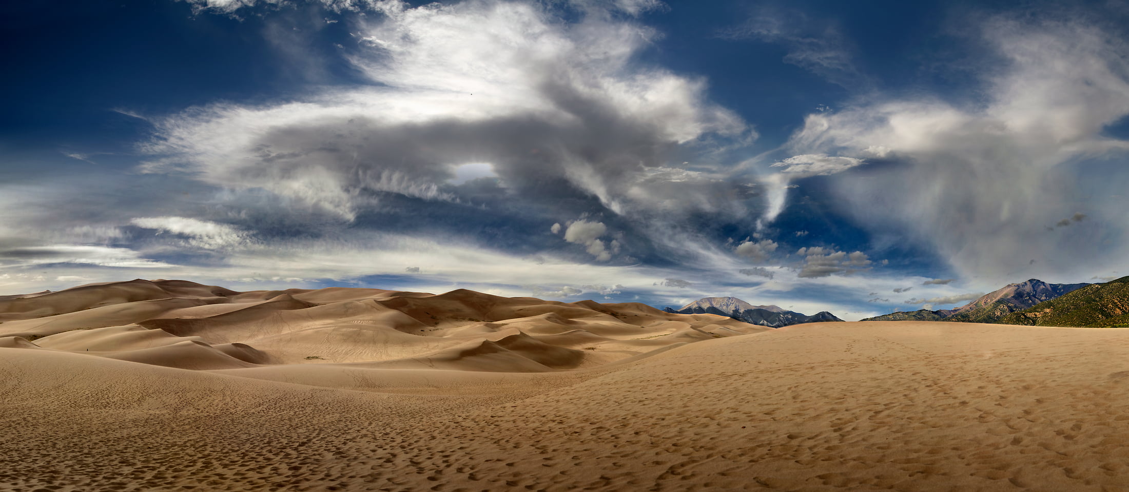
M1129 276L1095 283L998 322L1027 326L1129 327Z

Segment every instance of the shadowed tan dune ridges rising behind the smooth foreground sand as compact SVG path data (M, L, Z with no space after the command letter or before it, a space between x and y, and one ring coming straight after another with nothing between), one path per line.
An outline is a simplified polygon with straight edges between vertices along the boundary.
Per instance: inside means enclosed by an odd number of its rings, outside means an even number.
M0 300L0 336L182 369L365 363L380 369L592 368L762 327L639 304L574 304L470 290L236 292L181 280L81 285Z

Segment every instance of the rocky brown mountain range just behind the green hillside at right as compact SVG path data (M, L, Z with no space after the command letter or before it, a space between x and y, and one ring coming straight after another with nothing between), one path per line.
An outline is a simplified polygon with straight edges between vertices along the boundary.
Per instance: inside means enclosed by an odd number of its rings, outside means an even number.
M891 313L864 322L928 320L1000 323L1005 316L1073 292L1089 283L1047 283L1039 279L1010 283L956 309Z

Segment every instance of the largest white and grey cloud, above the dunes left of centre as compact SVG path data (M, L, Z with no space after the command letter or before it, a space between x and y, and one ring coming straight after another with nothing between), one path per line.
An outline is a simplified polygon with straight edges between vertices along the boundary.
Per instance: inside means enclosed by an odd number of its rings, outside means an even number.
M251 3L195 2L224 12ZM651 172L752 133L707 99L703 79L638 60L655 33L610 12L650 3L557 5L581 14L564 21L550 2L329 2L367 11L351 17L358 44L342 50L364 85L159 118L140 169L264 190L351 221L390 195L474 207L461 195L476 181L462 181L472 158L527 210L744 217L732 199L745 183L702 175L709 164Z

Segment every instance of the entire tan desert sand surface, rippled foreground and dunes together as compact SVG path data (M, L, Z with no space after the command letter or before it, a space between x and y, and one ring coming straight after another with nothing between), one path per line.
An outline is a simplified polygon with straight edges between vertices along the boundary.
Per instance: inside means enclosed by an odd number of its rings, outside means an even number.
M0 301L0 490L1129 490L1129 330L145 282Z

